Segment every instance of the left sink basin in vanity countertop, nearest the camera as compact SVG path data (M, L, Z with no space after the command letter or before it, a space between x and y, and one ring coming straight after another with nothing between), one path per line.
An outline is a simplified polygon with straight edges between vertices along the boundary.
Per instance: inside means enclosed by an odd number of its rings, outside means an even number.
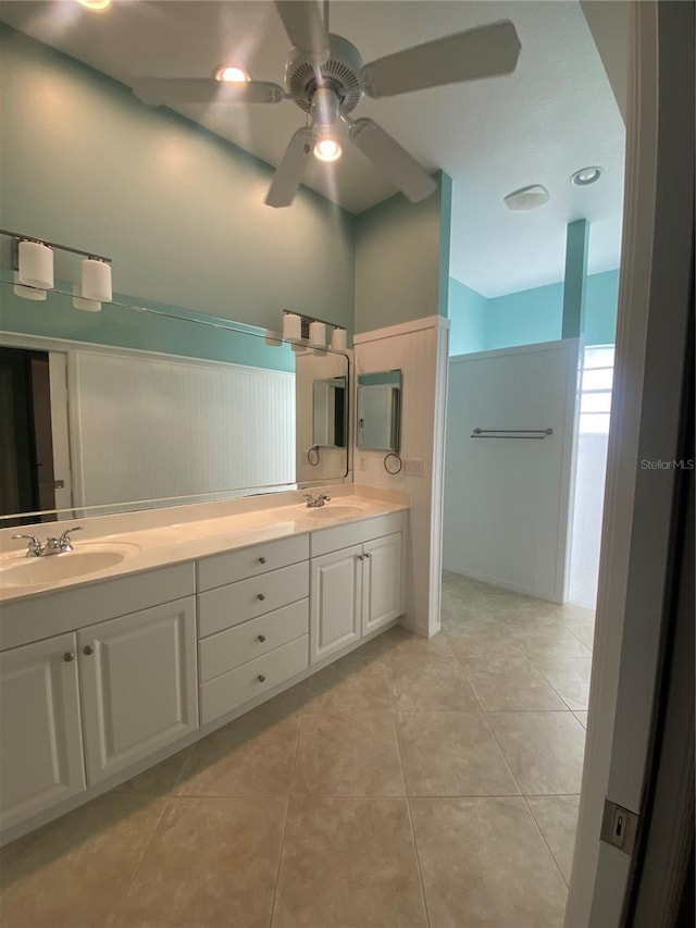
M45 586L77 577L99 573L140 550L138 545L89 545L49 557L24 557L0 566L0 586Z

